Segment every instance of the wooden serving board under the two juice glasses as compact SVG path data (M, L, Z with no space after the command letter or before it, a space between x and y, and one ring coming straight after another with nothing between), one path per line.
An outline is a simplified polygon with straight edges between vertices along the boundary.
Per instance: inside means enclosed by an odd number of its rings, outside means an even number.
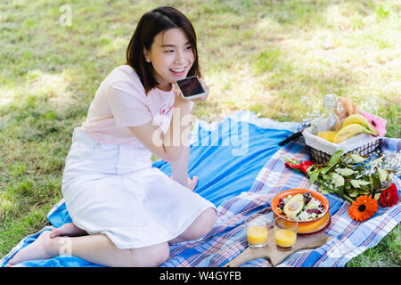
M274 229L271 228L268 231L267 245L265 248L246 248L239 256L233 258L232 261L225 264L223 267L238 267L250 260L258 258L268 259L273 266L279 265L285 258L291 256L291 254L296 251L318 248L329 240L329 236L324 232L317 232L310 235L298 235L294 247L288 251L283 251L276 248Z

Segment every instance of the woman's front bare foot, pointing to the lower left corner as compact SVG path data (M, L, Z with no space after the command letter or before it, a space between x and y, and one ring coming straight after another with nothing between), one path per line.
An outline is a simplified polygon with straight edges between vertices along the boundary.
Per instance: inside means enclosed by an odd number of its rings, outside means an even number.
M51 244L50 233L49 231L42 232L37 240L20 249L5 267L11 267L27 260L49 259L57 256L58 251Z

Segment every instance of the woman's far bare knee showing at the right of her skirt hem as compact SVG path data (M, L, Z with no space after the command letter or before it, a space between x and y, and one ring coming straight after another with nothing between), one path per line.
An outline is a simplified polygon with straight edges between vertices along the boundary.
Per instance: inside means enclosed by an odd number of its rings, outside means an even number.
M207 235L216 223L216 210L207 208L201 212L200 216L179 236L169 242L181 242L187 240L198 240Z

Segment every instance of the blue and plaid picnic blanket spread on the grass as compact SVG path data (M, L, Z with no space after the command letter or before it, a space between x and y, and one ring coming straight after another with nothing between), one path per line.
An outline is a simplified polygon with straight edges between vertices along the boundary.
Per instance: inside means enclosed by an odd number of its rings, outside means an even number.
M291 188L315 189L308 178L284 167L284 157L309 159L302 140L279 147L278 142L299 127L295 122L277 122L258 118L250 111L236 112L222 121L208 124L197 120L191 136L190 175L198 175L196 192L217 206L215 227L201 240L170 245L168 261L163 267L223 266L247 247L243 223L254 214L273 219L270 200L280 191ZM384 138L383 151L400 151L401 140ZM171 168L165 161L154 167L166 174ZM400 189L400 177L397 187ZM322 247L302 250L289 256L279 266L344 266L349 259L375 246L401 220L401 205L379 208L364 223L348 216L348 201L325 195L330 202L331 224L324 230L331 236ZM71 222L63 200L48 213L53 226ZM12 256L37 239L32 234L12 248L0 260L7 264ZM99 266L75 256L56 256L48 260L27 261L20 266ZM255 259L241 266L271 266L265 259Z

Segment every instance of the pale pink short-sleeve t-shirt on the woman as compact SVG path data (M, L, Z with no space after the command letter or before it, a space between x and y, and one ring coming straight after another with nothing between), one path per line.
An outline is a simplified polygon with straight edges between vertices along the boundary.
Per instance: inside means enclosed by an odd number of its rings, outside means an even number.
M153 88L146 95L135 70L122 65L102 81L82 128L96 142L143 147L128 126L141 126L152 121L166 133L174 99L174 87L170 91Z

